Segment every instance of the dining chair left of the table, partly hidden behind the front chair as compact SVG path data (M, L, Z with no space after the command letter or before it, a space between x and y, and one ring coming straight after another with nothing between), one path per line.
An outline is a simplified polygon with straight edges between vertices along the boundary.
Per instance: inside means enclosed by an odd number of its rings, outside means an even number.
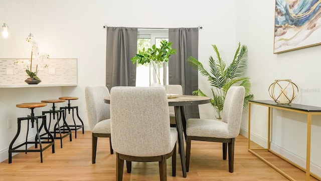
M113 154L110 139L110 106L104 103L104 97L109 95L106 86L85 87L87 117L89 128L92 132L92 163L96 163L98 137L109 137L110 154Z

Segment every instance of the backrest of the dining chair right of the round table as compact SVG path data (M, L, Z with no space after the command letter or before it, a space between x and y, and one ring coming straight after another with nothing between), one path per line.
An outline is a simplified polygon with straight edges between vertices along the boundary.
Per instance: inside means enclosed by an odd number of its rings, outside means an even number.
M222 121L228 124L231 137L236 137L240 133L244 95L243 86L232 86L225 97Z

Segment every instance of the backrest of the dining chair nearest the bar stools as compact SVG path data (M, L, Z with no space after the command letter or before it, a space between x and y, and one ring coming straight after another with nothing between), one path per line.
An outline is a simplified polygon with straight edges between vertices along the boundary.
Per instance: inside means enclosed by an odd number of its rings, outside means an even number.
M87 117L90 130L102 120L110 118L110 106L104 103L104 98L110 96L106 86L87 86L85 88L85 99Z

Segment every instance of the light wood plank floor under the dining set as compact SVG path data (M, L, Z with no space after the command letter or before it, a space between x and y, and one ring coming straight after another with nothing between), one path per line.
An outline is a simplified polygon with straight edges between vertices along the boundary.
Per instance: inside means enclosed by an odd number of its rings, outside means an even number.
M98 138L96 164L91 163L91 132L78 132L70 142L68 136L56 141L55 153L51 148L40 153L19 153L13 162L0 163L0 180L115 180L115 154L109 152L108 138ZM252 146L251 146L252 147ZM222 144L192 141L190 171L182 175L180 156L177 156L177 175L172 177L171 158L168 159L168 180L287 180L273 168L247 151L247 138L238 136L235 142L234 172L228 172L228 160L222 159ZM264 153L265 154L265 153ZM273 156L269 158L296 180L305 180L305 173ZM132 172L124 169L123 180L159 180L157 162L133 162ZM310 180L316 180L310 177Z

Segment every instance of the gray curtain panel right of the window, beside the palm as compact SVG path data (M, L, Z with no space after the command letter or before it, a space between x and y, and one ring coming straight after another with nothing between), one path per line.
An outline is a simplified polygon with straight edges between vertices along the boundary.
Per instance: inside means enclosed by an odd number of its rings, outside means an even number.
M173 42L172 48L177 49L176 55L169 61L169 84L180 84L183 93L192 95L198 90L198 70L187 62L192 56L198 59L199 29L198 28L170 28L169 41ZM199 118L198 106L185 107L186 118Z

